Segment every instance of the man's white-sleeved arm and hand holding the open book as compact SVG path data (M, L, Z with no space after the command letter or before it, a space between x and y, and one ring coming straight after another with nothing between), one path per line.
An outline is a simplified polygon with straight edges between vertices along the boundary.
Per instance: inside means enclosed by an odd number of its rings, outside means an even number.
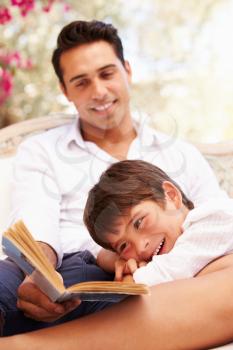
M37 137L29 138L19 146L12 186L11 223L22 219L34 238L41 241L52 265L60 265L61 194L46 144ZM78 302L74 301L62 305L52 303L31 277L25 277L18 289L18 307L35 320L53 321L72 310L75 303L77 306Z

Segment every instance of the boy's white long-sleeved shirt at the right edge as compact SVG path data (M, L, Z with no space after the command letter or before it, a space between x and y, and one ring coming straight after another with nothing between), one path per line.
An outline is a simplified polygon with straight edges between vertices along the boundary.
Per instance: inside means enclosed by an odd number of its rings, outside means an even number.
M195 276L215 258L233 251L233 199L207 201L191 210L173 249L137 269L137 283L159 283Z

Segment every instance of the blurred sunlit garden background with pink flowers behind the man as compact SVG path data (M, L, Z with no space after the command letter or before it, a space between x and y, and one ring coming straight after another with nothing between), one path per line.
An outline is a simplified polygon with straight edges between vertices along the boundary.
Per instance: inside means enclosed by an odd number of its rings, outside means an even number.
M190 141L233 139L233 0L0 0L0 128L74 113L50 64L61 28L114 24L133 69L132 108Z

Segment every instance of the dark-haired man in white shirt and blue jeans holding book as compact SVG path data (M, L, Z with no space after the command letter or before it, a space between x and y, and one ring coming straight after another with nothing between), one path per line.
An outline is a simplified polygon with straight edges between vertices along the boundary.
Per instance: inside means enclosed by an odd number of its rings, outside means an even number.
M109 164L138 158L154 163L194 204L224 194L195 148L133 120L131 68L111 25L77 21L64 27L52 62L79 117L75 124L34 136L19 147L11 222L24 220L66 285L112 279L84 251L101 254L82 223L87 193ZM0 281L3 335L48 327L106 307L52 303L9 260L0 265Z

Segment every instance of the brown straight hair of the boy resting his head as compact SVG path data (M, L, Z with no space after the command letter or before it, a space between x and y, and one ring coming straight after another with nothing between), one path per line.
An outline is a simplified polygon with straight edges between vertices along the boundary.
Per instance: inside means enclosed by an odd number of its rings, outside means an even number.
M84 223L94 241L112 249L105 240L106 233L114 233L117 218L127 215L131 207L142 201L153 200L164 208L164 181L176 186L188 209L194 208L179 185L155 165L141 160L124 160L111 165L90 190L84 209Z

